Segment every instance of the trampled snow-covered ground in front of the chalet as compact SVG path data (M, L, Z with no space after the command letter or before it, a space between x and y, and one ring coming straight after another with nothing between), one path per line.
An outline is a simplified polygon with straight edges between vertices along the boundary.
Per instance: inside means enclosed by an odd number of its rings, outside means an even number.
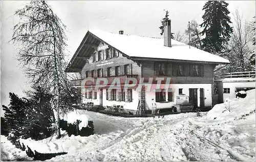
M112 117L85 110L78 113L87 114L94 121L94 135L69 137L62 131L59 140L53 136L22 142L41 153L68 152L49 161L254 161L255 158L255 90L250 90L245 99L215 106L203 113L203 117L196 117L196 113L166 115L163 119ZM2 142L1 147L2 150L5 147Z

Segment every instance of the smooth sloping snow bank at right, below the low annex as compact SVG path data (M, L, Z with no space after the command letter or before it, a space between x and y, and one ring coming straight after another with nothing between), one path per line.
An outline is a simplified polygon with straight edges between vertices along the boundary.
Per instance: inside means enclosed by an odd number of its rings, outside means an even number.
M226 99L224 103L215 105L208 113L210 120L234 120L255 111L255 89L248 90L247 96L238 99Z

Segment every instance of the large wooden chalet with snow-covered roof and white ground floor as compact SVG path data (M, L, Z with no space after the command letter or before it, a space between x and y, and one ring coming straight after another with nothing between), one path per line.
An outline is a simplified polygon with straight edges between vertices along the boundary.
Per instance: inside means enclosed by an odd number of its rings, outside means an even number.
M67 73L80 73L85 78L135 78L142 80L142 88L109 89L82 92L83 102L95 105L119 105L123 109L144 110L169 108L177 105L208 107L214 105L214 68L229 63L227 59L199 50L170 38L170 21L164 24L164 38L152 38L119 33L89 30L66 68ZM170 86L153 91L156 80L170 78ZM166 80L165 80L166 81ZM147 83L148 82L148 83ZM167 84L167 83L166 83ZM95 82L92 83L95 85ZM166 88L167 87L167 88Z

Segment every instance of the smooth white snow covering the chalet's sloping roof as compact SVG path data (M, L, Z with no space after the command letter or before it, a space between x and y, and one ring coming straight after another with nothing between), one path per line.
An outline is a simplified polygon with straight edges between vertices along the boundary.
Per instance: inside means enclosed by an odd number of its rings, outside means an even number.
M229 63L227 59L194 47L189 48L189 45L174 39L172 39L172 47L165 47L163 45L164 41L161 38L109 33L91 29L89 32L130 57L157 57L163 59Z

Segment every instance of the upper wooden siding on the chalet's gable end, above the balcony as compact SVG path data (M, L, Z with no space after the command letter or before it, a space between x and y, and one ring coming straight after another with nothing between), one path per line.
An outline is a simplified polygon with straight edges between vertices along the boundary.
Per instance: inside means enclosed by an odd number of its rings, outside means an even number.
M119 53L118 57L115 58L111 58L111 59L105 59L106 57L106 49L108 49L108 45L104 45L102 43L100 43L99 47L98 47L98 51L103 51L103 60L100 61L96 61L96 62L92 62L92 56L89 59L89 63L87 63L86 65L83 66L82 68L82 79L86 78L86 72L89 71L91 72L92 70L97 70L102 68L103 69L103 77L106 77L106 69L108 67L112 67L113 73L114 73L114 68L115 66L121 66L121 65L126 65L126 64L132 64L132 74L133 75L138 75L139 77L141 76L141 68L139 66L138 63L136 63L135 61L128 59L124 56L122 56L121 53ZM95 60L97 60L97 51L96 52L96 57ZM120 69L121 70L121 69ZM95 75L95 74L94 74Z

